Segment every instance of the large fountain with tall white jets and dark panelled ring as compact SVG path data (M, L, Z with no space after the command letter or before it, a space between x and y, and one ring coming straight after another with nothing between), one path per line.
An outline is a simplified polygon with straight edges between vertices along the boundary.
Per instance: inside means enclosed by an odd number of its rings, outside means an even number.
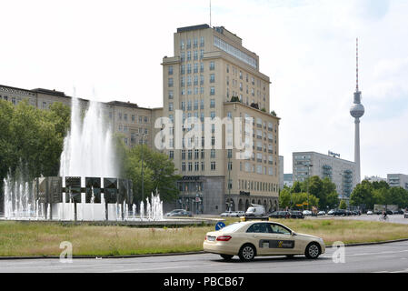
M102 105L91 101L85 117L72 99L71 129L64 140L59 176L5 179L5 219L59 221L159 221L159 194L133 203L132 181L116 178L114 144ZM129 213L130 207L132 212Z

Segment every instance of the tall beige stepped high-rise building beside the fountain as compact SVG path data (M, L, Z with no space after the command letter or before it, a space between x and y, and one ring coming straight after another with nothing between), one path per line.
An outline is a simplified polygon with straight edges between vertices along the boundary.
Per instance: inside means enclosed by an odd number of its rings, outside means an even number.
M174 56L164 56L162 65L163 115L172 121L176 110L183 112L183 122L254 118L249 159L237 159L236 149L226 149L224 129L223 149L165 150L183 176L177 207L208 214L246 210L251 203L277 208L279 118L269 114L270 80L259 70L259 56L223 26L195 25L177 28ZM204 138L214 144L214 135Z

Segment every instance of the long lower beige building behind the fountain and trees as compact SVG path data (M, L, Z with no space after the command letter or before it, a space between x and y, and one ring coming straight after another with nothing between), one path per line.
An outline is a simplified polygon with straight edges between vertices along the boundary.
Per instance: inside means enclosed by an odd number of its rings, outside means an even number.
M14 105L26 99L29 105L46 110L55 102L71 106L72 97L55 90L42 88L26 90L0 85L0 99ZM83 108L89 105L89 100L86 99L81 98L79 102ZM124 136L125 145L134 146L142 143L148 146L153 145L154 120L157 115L162 114L162 108L144 108L134 103L120 101L107 102L102 105L106 118L112 122L114 132ZM142 135L144 135L143 138Z

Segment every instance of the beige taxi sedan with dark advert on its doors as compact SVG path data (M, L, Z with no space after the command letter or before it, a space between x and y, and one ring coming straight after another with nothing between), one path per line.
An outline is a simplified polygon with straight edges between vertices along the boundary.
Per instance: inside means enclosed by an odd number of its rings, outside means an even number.
M251 261L255 256L304 255L316 259L324 254L323 239L295 233L272 221L247 221L209 232L204 240L204 252L221 255L225 260L239 256Z

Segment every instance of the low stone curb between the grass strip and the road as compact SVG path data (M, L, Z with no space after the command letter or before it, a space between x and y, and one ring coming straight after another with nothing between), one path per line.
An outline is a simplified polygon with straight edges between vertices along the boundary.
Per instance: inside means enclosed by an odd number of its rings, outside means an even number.
M355 243L355 244L345 244L345 247L350 246L373 246L373 245L384 245L384 244L392 244L398 242L406 242L408 238L396 239L396 240L387 240L383 242L371 242L371 243ZM325 248L332 248L333 246L325 246ZM201 255L205 254L204 251L197 251L197 252L185 252L185 253L167 253L167 254L145 254L145 255L128 255L128 256L73 256L74 258L95 258L95 259L102 259L102 258L133 258L133 257L148 257L148 256L184 256L184 255ZM1 260L25 260L25 259L45 259L45 258L52 258L52 259L59 259L59 256L0 256Z

